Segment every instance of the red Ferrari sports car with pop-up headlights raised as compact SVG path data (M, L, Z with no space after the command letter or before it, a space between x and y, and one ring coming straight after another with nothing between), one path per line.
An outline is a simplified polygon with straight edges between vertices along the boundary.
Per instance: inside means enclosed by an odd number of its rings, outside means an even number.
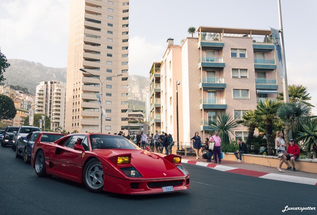
M84 183L96 193L157 194L190 188L178 155L142 150L118 135L75 133L54 143L40 135L31 156L39 177L49 174Z

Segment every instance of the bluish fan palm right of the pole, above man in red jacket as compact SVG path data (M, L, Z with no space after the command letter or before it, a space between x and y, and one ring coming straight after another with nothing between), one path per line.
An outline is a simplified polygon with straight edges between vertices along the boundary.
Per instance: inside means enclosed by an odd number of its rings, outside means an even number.
M285 124L284 137L288 143L290 131L298 130L303 119L310 117L311 108L303 102L283 103L277 111L277 115Z

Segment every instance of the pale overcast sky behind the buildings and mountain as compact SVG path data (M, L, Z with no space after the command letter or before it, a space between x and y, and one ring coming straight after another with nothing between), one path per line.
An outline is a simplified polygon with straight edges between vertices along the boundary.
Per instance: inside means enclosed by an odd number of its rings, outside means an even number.
M317 1L281 1L288 83L306 86L316 105ZM189 26L279 29L277 0L130 0L129 19L129 73L142 76L161 60L166 39L180 45ZM66 67L68 23L69 0L1 0L1 52Z

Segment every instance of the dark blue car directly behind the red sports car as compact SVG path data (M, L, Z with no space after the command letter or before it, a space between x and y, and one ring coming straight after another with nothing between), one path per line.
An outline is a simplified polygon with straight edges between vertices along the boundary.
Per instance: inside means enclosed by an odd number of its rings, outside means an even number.
M29 163L31 160L34 142L40 133L42 133L41 140L45 142L54 142L55 140L66 135L55 132L33 131L26 137L21 137L17 140L15 157L23 157L24 163Z

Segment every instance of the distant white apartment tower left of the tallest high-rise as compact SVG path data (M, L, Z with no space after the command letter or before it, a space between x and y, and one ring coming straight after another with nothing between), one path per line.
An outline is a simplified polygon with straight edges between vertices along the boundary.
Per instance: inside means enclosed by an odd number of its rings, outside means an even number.
M51 129L64 128L66 85L59 81L43 81L36 86L35 113L47 115Z

